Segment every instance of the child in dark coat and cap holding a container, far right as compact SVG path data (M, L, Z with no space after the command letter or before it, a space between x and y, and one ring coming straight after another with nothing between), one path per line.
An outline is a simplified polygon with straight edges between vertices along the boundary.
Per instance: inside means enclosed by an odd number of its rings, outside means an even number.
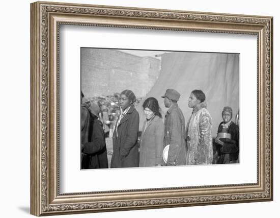
M226 106L221 113L223 122L219 124L218 133L230 133L231 137L221 139L216 137L215 142L220 145L219 159L220 163L237 163L239 154L239 129L232 121L232 108Z

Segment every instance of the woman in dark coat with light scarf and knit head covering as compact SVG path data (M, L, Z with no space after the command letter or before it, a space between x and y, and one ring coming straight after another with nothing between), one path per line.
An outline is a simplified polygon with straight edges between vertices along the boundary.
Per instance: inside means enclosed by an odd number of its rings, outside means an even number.
M133 106L135 101L136 96L131 90L121 92L121 113L113 133L111 168L139 166L139 114Z

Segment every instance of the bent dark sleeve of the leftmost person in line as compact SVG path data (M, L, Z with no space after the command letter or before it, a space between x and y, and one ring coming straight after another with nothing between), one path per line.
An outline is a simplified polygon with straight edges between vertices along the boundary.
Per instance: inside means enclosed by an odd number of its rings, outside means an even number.
M98 122L94 122L92 138L90 142L83 145L83 153L95 154L105 147L104 131Z

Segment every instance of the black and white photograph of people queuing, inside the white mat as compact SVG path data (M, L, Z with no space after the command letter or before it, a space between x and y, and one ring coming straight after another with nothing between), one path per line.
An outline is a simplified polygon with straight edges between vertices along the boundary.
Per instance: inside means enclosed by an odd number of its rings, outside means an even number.
M81 47L80 78L81 169L242 161L238 53Z

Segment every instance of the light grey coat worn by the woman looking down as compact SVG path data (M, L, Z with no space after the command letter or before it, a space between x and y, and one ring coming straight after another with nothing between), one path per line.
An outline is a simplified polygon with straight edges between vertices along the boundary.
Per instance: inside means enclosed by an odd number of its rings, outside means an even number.
M139 166L156 166L162 164L164 125L159 116L155 116L150 122L145 120L140 142ZM144 130L145 129L145 130Z

